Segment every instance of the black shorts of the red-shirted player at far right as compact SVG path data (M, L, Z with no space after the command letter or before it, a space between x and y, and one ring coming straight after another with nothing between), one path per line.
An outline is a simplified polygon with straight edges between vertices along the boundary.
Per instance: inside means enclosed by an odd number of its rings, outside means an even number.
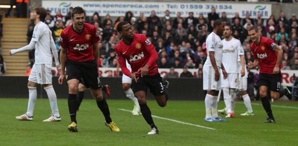
M281 73L278 74L259 74L259 78L257 81L257 87L266 86L268 90L273 92L279 92L280 89L280 81L281 81Z

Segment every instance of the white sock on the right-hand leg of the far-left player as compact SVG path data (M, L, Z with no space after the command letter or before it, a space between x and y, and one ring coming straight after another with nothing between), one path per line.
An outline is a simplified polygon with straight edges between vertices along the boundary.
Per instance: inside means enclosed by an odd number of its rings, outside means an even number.
M56 117L60 117L60 114L58 111L58 105L57 105L57 96L56 96L53 86L48 86L48 87L45 87L44 89L46 90L49 100L50 100L52 114Z

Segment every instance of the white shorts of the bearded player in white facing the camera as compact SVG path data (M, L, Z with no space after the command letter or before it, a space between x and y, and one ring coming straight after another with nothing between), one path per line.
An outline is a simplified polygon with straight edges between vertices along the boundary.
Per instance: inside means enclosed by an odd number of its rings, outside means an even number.
M221 87L229 87L232 89L237 89L238 83L238 73L228 73L228 78L223 79L223 73L221 72Z

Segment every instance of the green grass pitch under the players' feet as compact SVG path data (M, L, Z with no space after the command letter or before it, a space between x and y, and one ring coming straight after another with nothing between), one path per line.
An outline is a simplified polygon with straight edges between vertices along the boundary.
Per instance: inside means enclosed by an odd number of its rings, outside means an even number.
M60 122L43 122L51 114L48 99L37 99L34 120L18 121L27 110L28 99L0 98L0 145L297 145L297 102L273 102L276 123L263 123L266 113L260 101L253 101L254 116L245 112L242 101L237 102L235 118L228 122L206 122L204 101L168 101L164 108L155 100L148 106L160 134L147 135L150 126L141 115L130 112L130 100L108 99L113 121L120 132L104 126L104 117L95 100L85 99L77 113L78 130L67 130L70 122L66 99L59 99ZM219 102L219 109L224 107ZM224 117L225 115L220 115ZM176 121L173 121L176 120ZM205 126L205 127L200 127ZM209 128L206 128L209 127ZM210 129L213 128L213 129Z

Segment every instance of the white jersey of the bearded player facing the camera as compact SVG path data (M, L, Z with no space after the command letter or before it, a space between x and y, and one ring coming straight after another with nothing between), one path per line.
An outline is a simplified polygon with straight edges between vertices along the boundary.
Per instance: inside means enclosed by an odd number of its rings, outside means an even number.
M238 39L232 38L230 41L222 40L223 55L222 64L227 73L238 73L237 60L239 55L244 55L243 48Z

